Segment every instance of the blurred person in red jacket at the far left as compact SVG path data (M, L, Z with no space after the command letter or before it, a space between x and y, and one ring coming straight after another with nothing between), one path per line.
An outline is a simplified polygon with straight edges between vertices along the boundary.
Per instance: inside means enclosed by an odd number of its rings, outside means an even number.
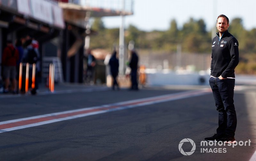
M8 93L10 79L12 80L11 91L17 93L16 90L16 62L19 60L19 51L14 48L12 41L7 41L7 46L4 48L2 63L4 65L4 93Z

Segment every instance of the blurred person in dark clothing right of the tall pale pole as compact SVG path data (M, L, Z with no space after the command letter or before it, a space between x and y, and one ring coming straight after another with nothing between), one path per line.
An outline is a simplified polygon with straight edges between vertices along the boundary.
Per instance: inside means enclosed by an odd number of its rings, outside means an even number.
M137 70L138 70L138 61L139 57L135 50L132 50L132 57L129 62L129 66L131 68L131 81L132 81L132 86L131 90L138 90L138 81L137 81Z

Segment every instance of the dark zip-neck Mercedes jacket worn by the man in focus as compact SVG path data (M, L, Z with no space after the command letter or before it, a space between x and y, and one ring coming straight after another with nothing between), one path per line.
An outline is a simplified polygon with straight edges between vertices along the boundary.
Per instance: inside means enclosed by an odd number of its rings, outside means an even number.
M235 78L235 68L239 62L238 41L228 32L219 33L212 41L211 75L214 77Z

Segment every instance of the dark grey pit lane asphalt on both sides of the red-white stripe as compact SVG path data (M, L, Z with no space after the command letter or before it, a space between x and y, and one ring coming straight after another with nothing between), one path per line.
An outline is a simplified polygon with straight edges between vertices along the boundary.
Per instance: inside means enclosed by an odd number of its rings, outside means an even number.
M83 88L83 87L81 87ZM200 87L197 87L200 88ZM237 87L239 89L239 87ZM0 121L194 90L145 88L140 91L74 90L38 96L0 97ZM200 146L215 133L218 112L212 93L133 109L0 133L0 160L249 160L255 151L255 86L235 92L236 141L250 146ZM184 156L179 143L190 138L196 151ZM184 144L184 151L191 146ZM226 148L226 153L201 153Z

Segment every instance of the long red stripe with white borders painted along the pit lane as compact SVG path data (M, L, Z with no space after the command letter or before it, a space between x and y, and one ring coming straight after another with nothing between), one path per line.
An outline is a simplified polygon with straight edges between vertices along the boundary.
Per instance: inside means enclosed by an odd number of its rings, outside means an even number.
M28 118L21 118L21 119L14 119L0 122L0 133L28 128L28 127L35 127L45 124L50 124L54 122L69 120L69 119L76 119L106 112L124 110L134 107L140 107L150 104L157 104L167 101L173 101L188 97L194 96L201 96L208 94L211 90L209 88L204 88L201 90L194 90L194 91L187 91L187 92L180 92L175 94L168 94L162 96L154 96L142 99L136 99L131 101L124 101L115 104L105 104L100 106L82 108L77 110L69 110L69 111L62 111L62 112L55 112L50 114L44 114L39 116L33 116Z

